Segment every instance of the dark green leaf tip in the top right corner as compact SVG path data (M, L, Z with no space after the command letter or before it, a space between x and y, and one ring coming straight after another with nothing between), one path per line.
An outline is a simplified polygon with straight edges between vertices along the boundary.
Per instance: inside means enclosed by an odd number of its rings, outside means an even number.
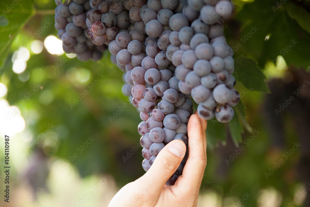
M290 17L310 34L310 15L307 10L294 3L287 2L286 11Z

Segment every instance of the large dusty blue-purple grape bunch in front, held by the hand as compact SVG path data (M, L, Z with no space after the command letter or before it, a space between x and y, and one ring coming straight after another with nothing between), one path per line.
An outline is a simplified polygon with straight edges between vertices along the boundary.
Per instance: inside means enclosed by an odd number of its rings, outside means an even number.
M91 0L90 5L82 29L95 49L108 45L111 61L124 71L122 93L142 119L143 169L148 171L172 140L187 146L166 183L174 185L188 156L191 98L199 116L223 123L232 120L240 100L233 88L233 51L223 35L222 19L231 16L233 5L228 0Z

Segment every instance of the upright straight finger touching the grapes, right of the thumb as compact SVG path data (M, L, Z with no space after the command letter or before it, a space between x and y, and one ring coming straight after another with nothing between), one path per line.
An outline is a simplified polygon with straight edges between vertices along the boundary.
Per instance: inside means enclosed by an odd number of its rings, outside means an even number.
M202 121L204 127L206 122ZM203 127L197 115L192 115L188 121L188 160L183 174L173 190L197 193L206 168L206 150L203 137Z

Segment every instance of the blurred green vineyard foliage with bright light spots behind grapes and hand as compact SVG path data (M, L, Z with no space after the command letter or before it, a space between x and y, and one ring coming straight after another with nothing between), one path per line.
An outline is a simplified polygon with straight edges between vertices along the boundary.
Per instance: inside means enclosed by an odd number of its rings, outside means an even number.
M53 0L16 2L0 3L0 206L107 206L144 174L140 118L122 95L122 72L108 51L98 62L64 53ZM258 62L271 93L249 87L255 74L237 82L246 106L238 145L232 128L208 121L217 130L207 133L198 206L310 206L310 1L233 3L227 42L235 58ZM9 22L6 12L16 18Z

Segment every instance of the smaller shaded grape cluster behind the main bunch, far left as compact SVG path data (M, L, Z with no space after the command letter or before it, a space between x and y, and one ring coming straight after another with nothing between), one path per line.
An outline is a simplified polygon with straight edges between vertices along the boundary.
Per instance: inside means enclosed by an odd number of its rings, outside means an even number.
M87 33L87 12L96 7L95 1L89 0L55 0L55 29L63 41L66 53L76 53L81 61L101 59L107 45L95 45Z

